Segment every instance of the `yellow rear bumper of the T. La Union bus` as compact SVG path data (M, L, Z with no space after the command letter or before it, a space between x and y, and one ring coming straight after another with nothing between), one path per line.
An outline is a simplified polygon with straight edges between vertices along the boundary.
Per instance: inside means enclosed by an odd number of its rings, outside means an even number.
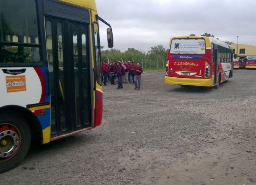
M204 86L211 87L212 79L200 79L200 78L178 78L178 77L164 77L164 83L166 84L178 84L178 85L192 85L192 86Z

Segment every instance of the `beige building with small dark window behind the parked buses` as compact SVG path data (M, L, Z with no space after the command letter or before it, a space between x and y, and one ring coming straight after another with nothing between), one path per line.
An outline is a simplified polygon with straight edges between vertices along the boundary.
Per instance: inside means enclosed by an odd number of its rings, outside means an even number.
M237 57L256 56L256 46L247 44L231 44L231 46Z

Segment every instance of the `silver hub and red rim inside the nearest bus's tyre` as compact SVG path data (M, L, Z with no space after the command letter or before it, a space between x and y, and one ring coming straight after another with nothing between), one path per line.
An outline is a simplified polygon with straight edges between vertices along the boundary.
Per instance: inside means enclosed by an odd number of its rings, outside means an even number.
M0 128L0 158L8 158L18 149L19 135L15 129L4 125Z

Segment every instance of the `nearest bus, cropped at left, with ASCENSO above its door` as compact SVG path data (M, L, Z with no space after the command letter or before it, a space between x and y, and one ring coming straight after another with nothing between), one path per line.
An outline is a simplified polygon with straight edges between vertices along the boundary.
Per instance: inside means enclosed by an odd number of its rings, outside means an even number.
M110 25L95 0L1 0L0 12L4 172L26 156L32 136L44 144L101 124L98 20Z

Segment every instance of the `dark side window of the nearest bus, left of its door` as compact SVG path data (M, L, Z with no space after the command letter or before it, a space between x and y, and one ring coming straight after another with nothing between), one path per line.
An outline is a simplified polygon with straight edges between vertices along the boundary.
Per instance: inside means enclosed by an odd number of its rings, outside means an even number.
M0 64L40 64L36 1L1 0L0 12L0 42L12 42L1 45Z

